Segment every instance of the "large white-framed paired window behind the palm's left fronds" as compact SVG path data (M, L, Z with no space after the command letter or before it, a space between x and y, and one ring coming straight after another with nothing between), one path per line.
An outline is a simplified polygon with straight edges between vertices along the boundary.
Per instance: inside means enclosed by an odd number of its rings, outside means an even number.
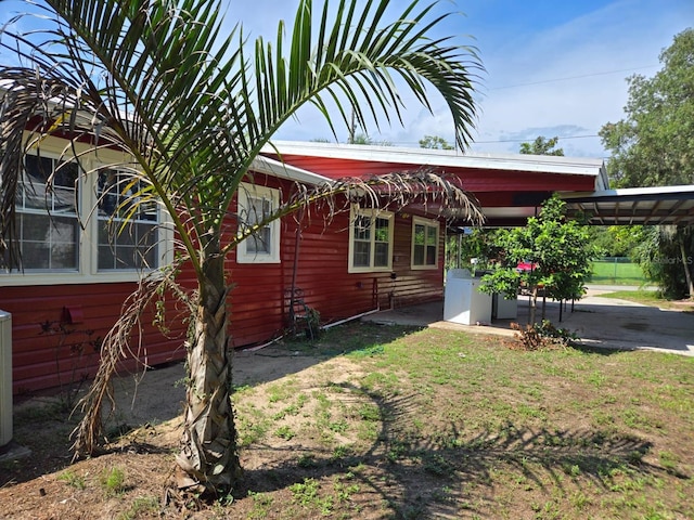
M25 157L15 213L21 263L0 273L0 286L136 282L171 262L168 213L154 200L136 204L150 197L143 184L104 167L128 157L102 150L78 164L61 157L64 148L49 139Z

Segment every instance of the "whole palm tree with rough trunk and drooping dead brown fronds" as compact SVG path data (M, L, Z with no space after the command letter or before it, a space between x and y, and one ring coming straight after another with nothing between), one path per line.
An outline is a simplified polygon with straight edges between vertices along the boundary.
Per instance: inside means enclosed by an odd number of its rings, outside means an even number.
M300 0L288 47L281 22L275 44L258 39L250 56L241 26L224 34L220 3L46 0L52 25L40 37L12 34L12 24L0 34L0 44L21 63L0 68L5 90L0 109L0 258L10 265L18 262L14 203L28 147L23 130L31 129L35 146L61 132L72 143L127 153L124 166L137 193L119 209L154 200L163 205L176 231L177 258L190 263L197 282L194 297L187 292L190 382L179 483L213 492L232 487L241 474L229 393L227 253L267 220L354 188L346 181L304 190L256 227L230 235L230 205L260 150L308 103L323 114L333 133L336 122L349 126L351 110L362 128L369 118L401 120L396 77L426 107L426 84L442 94L463 148L475 116L473 81L481 68L474 50L451 38L432 38L447 15L433 16L434 4L421 5L422 0L411 0L394 21L385 13L399 2L343 0L333 9L326 1L317 24L312 1ZM80 153L75 155L79 159ZM415 193L412 183L422 187L436 182L434 192L452 205L468 203L459 187L436 176L394 176L387 182L401 194ZM375 191L372 195L377 198ZM183 295L175 284L176 272L174 268L143 281L130 312L112 329L105 349L112 355L102 362L76 430L77 455L95 450L104 381L143 302L155 292L151 284L168 284Z

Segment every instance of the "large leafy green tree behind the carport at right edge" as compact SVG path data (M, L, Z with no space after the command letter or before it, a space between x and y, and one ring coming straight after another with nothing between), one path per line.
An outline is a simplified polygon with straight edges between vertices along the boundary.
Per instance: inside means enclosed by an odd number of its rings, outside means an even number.
M694 29L676 35L660 53L660 63L652 78L628 78L625 118L600 130L612 153L607 172L617 187L694 183ZM645 235L634 259L646 275L669 297L694 297L691 226L665 232L652 227Z

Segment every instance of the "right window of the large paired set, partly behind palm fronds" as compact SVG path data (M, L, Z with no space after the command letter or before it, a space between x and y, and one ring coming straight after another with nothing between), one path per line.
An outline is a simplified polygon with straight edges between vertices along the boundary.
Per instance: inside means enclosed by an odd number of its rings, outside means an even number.
M159 210L144 183L126 171L104 168L99 170L97 197L98 271L157 268Z

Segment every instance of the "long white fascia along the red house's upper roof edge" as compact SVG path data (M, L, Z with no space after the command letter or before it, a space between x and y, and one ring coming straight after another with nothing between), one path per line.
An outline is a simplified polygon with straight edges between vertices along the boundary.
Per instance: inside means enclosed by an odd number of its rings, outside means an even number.
M523 170L574 176L603 176L604 161L600 158L563 157L524 154L462 154L458 151L372 146L358 144L273 141L262 148L266 154L305 155L380 162L399 162L416 166ZM606 172L604 173L606 176ZM606 179L606 177L605 177ZM604 182L597 183L599 185ZM602 187L602 186L601 186ZM606 187L606 186L605 186Z

